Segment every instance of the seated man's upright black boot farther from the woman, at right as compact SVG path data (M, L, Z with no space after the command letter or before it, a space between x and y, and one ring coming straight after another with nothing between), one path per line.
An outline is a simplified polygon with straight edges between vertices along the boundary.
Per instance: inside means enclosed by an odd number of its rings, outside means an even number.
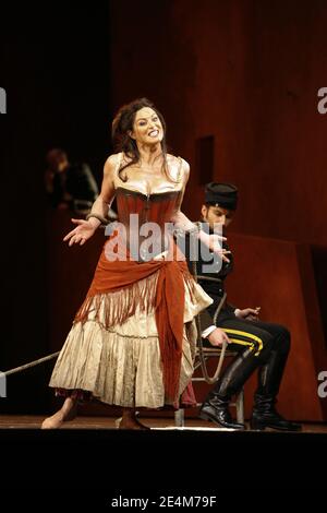
M251 417L251 428L263 431L274 428L283 431L299 431L301 425L284 419L275 408L276 396L287 362L288 353L272 350L269 361L258 373L258 389L254 396L254 408Z

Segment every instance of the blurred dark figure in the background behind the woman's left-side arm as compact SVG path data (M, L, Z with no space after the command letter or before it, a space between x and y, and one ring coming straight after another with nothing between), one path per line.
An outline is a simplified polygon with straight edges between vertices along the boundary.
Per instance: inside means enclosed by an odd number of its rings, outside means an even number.
M98 186L87 164L71 164L66 153L52 148L46 156L45 186L55 208L87 214L98 196Z

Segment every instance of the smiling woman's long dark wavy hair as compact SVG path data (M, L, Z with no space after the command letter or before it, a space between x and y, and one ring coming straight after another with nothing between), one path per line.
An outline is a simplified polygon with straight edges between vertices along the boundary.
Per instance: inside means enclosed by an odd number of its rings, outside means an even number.
M137 98L131 102L130 104L123 105L119 111L117 112L113 121L112 121L112 142L114 150L117 152L123 152L128 157L131 158L131 160L122 166L119 170L119 177L122 181L126 181L128 178L126 176L122 176L121 172L129 166L132 166L133 164L136 164L140 160L140 152L137 148L137 144L129 135L129 132L133 130L134 121L135 121L135 116L136 112L144 107L149 107L152 108L158 118L160 119L160 122L162 124L164 129L164 139L161 141L161 150L162 150L162 157L164 157L164 163L162 163L162 171L167 176L169 180L172 180L169 170L168 170L168 164L167 164L167 143L166 143L166 122L164 119L164 116L159 110L154 106L154 104L147 99L147 98Z

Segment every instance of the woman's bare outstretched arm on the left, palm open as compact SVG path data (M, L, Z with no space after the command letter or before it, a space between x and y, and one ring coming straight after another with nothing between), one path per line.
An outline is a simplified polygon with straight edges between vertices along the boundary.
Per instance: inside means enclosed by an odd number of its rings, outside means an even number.
M69 246L76 243L83 246L99 227L101 219L106 218L110 204L114 198L113 177L117 164L118 155L110 155L104 167L101 192L92 206L88 220L72 219L72 222L77 226L63 239L65 242L69 241Z

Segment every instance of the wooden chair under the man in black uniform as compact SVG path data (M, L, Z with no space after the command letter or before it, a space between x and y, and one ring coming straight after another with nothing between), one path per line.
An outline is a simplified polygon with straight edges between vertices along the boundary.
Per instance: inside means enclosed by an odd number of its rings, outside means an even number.
M210 276L197 276L196 274L196 266L192 266L192 274L194 278L197 281L201 278L202 282L204 281L209 281L209 282L217 282L217 285L221 283L219 278L214 278ZM226 293L223 294L214 315L214 323L216 324L217 318L219 315L219 312L225 303L226 300ZM222 363L225 361L225 358L231 358L237 356L235 351L228 350L228 344L225 342L221 347L206 347L204 345L204 341L201 336L203 330L201 327L201 314L196 317L196 329L197 329L197 344L196 344L196 354L195 354L195 361L194 361L194 370L201 368L202 370L202 377L192 378L192 382L199 382L199 381L205 381L208 384L214 384L216 381L218 381L222 368ZM210 377L208 373L207 369L207 361L210 358L216 358L218 359L217 361L217 368L214 374ZM202 403L197 403L196 406L201 406ZM237 395L235 401L233 403L230 403L230 406L234 406L237 408L237 419L238 422L244 423L244 390L240 391L240 393ZM184 427L184 409L180 408L174 413L174 425L175 427Z

